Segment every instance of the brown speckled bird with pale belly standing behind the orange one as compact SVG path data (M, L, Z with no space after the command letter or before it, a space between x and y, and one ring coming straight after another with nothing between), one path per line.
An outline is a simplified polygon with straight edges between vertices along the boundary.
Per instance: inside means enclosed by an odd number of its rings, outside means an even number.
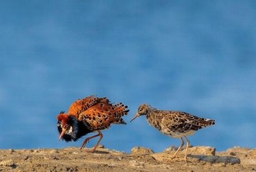
M184 156L185 161L188 160L188 147L190 145L190 140L188 140L187 136L193 135L194 132L199 129L215 124L215 120L200 118L183 111L159 110L148 104L140 105L138 107L138 112L131 121L144 115L146 116L149 125L152 125L152 127L155 127L167 136L181 138L181 146L176 150L172 159L176 158L177 153L183 147L183 138L187 140Z

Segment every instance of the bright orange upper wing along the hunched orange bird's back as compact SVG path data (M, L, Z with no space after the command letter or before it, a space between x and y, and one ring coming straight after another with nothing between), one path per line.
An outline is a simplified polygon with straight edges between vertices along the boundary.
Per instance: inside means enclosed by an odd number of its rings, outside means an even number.
M82 111L86 111L86 109L89 109L100 101L106 103L109 102L107 98L98 98L96 96L89 96L83 99L78 99L71 105L71 107L69 107L68 114L79 118L79 114L81 114Z

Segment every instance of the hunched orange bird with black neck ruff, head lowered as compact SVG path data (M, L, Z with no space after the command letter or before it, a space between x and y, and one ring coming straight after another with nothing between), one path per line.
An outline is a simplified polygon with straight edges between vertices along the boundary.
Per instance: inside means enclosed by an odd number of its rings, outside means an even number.
M86 138L80 148L83 149L91 138L99 136L100 138L93 150L87 150L94 152L103 138L101 130L108 129L112 123L126 124L122 116L128 114L129 109L127 108L128 106L123 103L111 103L108 98L88 96L78 99L69 107L68 113L65 114L64 111L61 111L57 116L57 130L60 133L59 141L76 142L87 133L97 131L98 134Z

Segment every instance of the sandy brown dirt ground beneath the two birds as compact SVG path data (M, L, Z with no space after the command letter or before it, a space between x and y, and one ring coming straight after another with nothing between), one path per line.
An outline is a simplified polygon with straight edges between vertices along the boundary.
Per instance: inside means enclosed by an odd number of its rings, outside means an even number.
M78 147L1 149L0 171L256 171L256 149L214 150L192 147L185 162L184 151L171 158L174 149L162 153L143 148L131 153L104 148L89 153Z

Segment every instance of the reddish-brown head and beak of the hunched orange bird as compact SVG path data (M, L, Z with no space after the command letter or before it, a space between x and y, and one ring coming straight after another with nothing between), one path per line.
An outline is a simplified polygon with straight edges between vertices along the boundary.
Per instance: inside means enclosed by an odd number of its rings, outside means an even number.
M64 111L61 111L60 114L57 116L57 120L57 128L60 133L59 140L64 138L66 141L69 141L69 139L67 140L64 136L70 135L73 131L72 117L65 114Z

